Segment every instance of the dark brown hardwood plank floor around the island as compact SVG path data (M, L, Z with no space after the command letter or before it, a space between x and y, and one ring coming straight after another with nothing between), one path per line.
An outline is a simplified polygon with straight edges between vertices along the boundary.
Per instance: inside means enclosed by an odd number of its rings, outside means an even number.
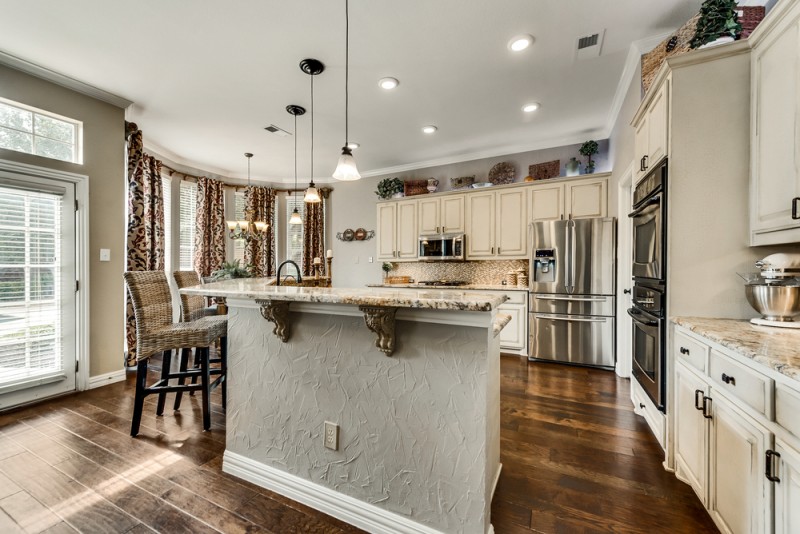
M502 358L503 533L716 532L613 373ZM154 371L155 372L155 371ZM126 382L0 415L0 532L360 532L221 471L224 413L199 396L132 439ZM169 403L168 403L169 405Z

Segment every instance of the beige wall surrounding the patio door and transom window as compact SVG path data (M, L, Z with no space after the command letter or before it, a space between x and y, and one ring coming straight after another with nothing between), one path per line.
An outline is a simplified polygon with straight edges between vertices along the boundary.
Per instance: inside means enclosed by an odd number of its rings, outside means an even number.
M124 110L0 65L0 96L83 121L83 165L0 149L0 158L89 176L90 375L123 366ZM98 261L100 248L111 261Z

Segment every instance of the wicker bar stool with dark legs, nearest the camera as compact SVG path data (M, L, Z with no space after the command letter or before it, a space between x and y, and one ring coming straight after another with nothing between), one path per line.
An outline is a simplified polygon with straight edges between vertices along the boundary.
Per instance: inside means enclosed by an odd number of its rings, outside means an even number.
M131 295L133 311L136 318L136 394L133 406L131 436L139 433L142 420L144 399L148 395L158 394L156 414L164 413L167 393L202 392L203 429L211 428L211 391L225 383L225 373L211 381L209 365L209 347L216 339L220 339L220 358L225 368L227 359L227 323L203 317L195 321L172 322L172 296L163 271L127 271L124 274L128 292ZM198 369L171 372L172 350L195 348L200 360ZM154 384L147 385L147 363L150 356L163 353L161 378ZM186 379L200 377L200 384L171 385L173 378Z

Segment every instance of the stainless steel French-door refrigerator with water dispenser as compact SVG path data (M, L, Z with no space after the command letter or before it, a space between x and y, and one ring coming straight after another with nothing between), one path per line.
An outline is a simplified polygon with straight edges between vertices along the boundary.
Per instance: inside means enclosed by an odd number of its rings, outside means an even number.
M616 219L531 224L529 359L613 368Z

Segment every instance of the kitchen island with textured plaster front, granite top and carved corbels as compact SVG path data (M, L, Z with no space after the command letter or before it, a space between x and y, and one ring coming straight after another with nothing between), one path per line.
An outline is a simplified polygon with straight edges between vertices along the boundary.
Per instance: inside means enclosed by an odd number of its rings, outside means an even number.
M228 304L225 472L370 532L492 531L504 295L181 291Z

